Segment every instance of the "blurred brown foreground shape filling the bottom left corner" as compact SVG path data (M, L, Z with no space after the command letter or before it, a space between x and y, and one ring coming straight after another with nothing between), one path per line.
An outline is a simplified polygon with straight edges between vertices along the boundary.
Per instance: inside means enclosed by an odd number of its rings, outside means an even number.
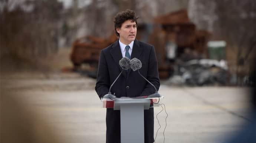
M1 90L1 143L61 143L49 117L33 110L19 99Z

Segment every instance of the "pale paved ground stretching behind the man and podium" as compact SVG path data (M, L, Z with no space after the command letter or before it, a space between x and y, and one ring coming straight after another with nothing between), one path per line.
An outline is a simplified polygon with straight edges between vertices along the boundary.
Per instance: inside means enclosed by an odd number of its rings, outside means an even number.
M105 109L94 85L95 80L76 75L1 80L2 88L49 124L63 143L105 142ZM248 88L161 85L159 93L168 113L165 143L216 143L249 122ZM155 108L155 134L161 109ZM164 111L158 115L157 143L164 141L165 117Z

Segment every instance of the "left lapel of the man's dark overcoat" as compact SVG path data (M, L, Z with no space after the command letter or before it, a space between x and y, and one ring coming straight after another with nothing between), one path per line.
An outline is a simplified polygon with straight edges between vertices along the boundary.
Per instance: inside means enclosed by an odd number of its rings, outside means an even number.
M120 50L119 40L116 40L116 42L113 44L112 49L110 50L110 54L111 54L112 58L114 59L115 64L117 65L117 67L119 68L119 70L121 72L122 68L119 65L119 61L123 56L122 56L122 52ZM125 71L122 72L122 75L124 75L125 77L127 76L126 74L127 73Z

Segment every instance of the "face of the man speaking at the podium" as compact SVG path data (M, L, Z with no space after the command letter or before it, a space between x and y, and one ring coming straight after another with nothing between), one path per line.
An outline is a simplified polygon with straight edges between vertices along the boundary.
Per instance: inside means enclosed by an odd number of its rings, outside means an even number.
M119 33L120 41L126 45L130 44L131 41L135 40L137 33L137 25L131 20L125 21L121 28L116 28L116 31Z

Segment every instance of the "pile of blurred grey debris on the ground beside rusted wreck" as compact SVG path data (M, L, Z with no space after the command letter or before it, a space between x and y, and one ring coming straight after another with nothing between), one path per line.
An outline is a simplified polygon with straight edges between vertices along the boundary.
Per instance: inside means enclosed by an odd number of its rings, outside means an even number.
M193 59L187 62L181 62L178 66L178 75L173 76L170 81L180 81L186 85L227 85L228 67L224 60L214 59ZM180 76L182 79L177 78Z

